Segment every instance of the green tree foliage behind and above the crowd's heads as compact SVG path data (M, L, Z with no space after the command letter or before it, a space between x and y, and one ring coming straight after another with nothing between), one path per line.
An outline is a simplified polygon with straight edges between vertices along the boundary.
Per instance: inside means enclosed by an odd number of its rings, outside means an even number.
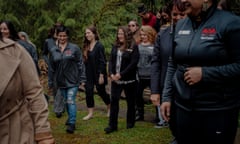
M163 0L162 0L163 1ZM144 3L156 12L161 0L0 0L0 20L10 20L25 31L41 53L49 28L62 22L71 30L71 41L82 47L85 28L96 25L107 54L118 26L140 18L137 7Z

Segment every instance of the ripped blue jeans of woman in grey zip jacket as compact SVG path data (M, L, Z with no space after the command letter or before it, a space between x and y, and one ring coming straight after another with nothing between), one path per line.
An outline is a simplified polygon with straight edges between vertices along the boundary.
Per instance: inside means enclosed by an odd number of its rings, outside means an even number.
M66 109L68 113L67 123L75 124L77 116L76 95L78 92L78 87L60 88L60 90L66 103Z

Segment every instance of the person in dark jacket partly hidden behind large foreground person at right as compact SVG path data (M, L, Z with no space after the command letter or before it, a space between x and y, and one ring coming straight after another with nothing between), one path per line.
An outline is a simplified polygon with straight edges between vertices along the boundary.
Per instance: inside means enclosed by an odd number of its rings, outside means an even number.
M168 66L168 58L172 54L173 49L173 36L174 29L178 20L185 18L186 14L184 13L184 7L180 0L171 0L169 2L169 8L171 9L171 25L166 27L165 29L161 29L157 35L157 39L155 41L152 63L151 63L151 97L150 99L156 100L160 99L160 95L162 94L162 90L164 87L164 80L166 77L167 66ZM172 101L174 101L172 99ZM153 103L154 105L160 108L160 103ZM159 110L160 112L160 110ZM174 104L171 105L171 120L168 122L169 127L171 129L172 135L175 136L175 109ZM162 117L160 117L162 118ZM168 123L166 123L163 119L156 125L158 128L165 127ZM171 144L176 142L175 137Z

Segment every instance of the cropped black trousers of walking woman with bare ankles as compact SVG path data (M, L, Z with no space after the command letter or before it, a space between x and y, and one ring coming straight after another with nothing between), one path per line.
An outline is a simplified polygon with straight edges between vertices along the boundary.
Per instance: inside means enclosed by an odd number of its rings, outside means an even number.
M96 84L96 89L98 95L102 98L103 102L108 105L110 104L110 95L106 92L106 85ZM94 103L94 84L93 83L86 83L85 85L85 94L86 94L86 103L88 108L93 108Z

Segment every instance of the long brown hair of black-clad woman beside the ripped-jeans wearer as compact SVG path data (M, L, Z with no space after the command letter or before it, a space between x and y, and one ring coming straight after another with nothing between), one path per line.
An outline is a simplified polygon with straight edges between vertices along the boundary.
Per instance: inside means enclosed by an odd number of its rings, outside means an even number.
M94 25L91 25L89 27L87 27L86 29L90 30L94 36L95 36L95 40L99 40L99 34L97 31L97 28ZM86 61L88 59L87 53L90 47L90 41L86 38L86 35L84 36L84 41L83 41L83 59L84 61Z

